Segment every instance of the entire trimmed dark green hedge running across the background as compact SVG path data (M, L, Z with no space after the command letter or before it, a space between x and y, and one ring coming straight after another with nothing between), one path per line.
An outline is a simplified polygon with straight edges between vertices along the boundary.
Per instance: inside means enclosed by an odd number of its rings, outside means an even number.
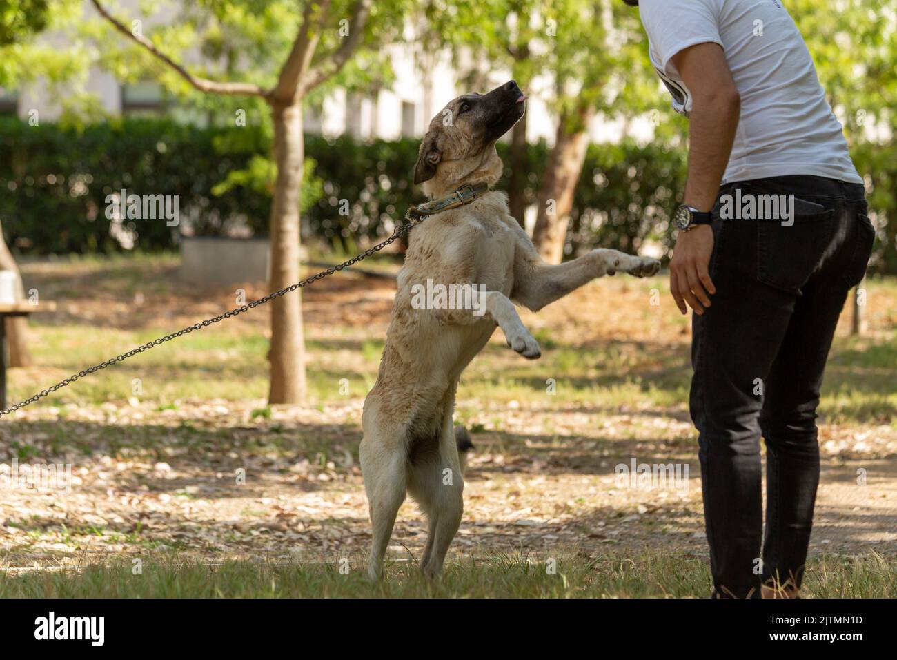
M123 245L123 231L143 251L175 247L187 226L199 235L266 235L270 145L270 136L257 127L196 128L170 119L32 127L0 119L0 219L7 241L20 252L48 254L120 251L130 247ZM369 143L307 135L304 240L353 251L388 235L393 219L422 200L412 180L418 145L417 139ZM499 150L507 163L507 146ZM531 203L547 154L542 142L527 150ZM874 172L869 201L879 223L877 269L897 272L897 147L863 145L853 156L860 172ZM684 178L684 149L630 141L590 145L574 197L568 253L594 246L636 251L647 239L668 249L669 214ZM106 216L106 198L119 189L179 195L181 225L137 219L117 228Z

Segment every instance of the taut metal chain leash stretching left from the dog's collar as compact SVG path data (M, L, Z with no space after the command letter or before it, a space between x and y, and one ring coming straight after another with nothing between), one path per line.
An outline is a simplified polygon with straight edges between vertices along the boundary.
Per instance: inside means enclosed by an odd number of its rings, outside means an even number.
M100 369L105 369L107 366L117 365L119 362L123 362L128 357L133 357L133 356L137 355L138 353L143 353L144 350L149 350L150 348L157 347L160 344L164 344L166 341L170 341L171 339L175 339L177 337L180 337L181 335L187 335L190 332L193 332L194 330L202 330L203 328L210 326L213 323L217 323L218 321L223 321L224 319L230 319L232 316L237 316L238 314L241 314L243 312L248 312L248 310L251 310L251 309L257 307L260 304L266 304L267 302L274 300L274 298L279 298L280 296L289 294L290 292L295 291L296 289L302 288L303 286L308 286L312 282L317 282L319 279L324 279L324 277L333 275L338 270L343 270L344 268L349 268L353 264L358 263L361 260L367 259L374 252L379 252L379 251L383 250L383 248L385 248L390 243L396 242L402 234L407 233L408 230L411 229L412 227L414 227L415 224L421 224L426 219L426 216L410 218L409 216L406 215L405 217L408 218L408 222L405 224L400 224L398 227L396 227L396 231L393 232L392 235L389 236L389 238L386 241L380 242L377 245L374 245L372 248L369 248L368 250L361 252L361 254L354 256L352 259L350 259L348 261L344 261L343 263L339 264L338 266L331 266L330 268L327 268L326 270L322 270L321 272L319 272L316 275L312 275L311 277L306 277L305 279L301 280L300 282L297 282L296 284L287 286L286 288L283 288L280 291L275 291L273 294L268 294L264 298L259 298L258 300L254 300L251 303L243 304L235 309L232 309L230 312L224 312L223 314L221 314L219 316L215 316L212 319L206 319L205 321L194 323L193 325L187 326L187 328L185 328L184 330L178 330L177 332L172 332L170 335L166 335L165 337L160 337L159 339L153 339L152 341L148 341L147 343L145 343L143 346L138 346L137 348L129 350L127 353L122 353L120 356L112 357L111 359L106 360L105 362L100 362L99 365L93 365L88 369L79 371L77 374L72 374L68 378L66 378L65 381L60 381L59 383L56 383L52 387L48 387L43 392L38 392L37 394L32 396L30 399L23 400L20 403L16 403L14 406L10 406L9 408L0 410L0 418L4 417L4 415L9 415L11 412L22 409L25 406L28 406L37 400L43 399L44 397L48 396L49 394L56 392L58 389L65 387L65 385L70 385L71 383L74 383L78 379L83 378L87 374L92 374L95 371L100 371Z

